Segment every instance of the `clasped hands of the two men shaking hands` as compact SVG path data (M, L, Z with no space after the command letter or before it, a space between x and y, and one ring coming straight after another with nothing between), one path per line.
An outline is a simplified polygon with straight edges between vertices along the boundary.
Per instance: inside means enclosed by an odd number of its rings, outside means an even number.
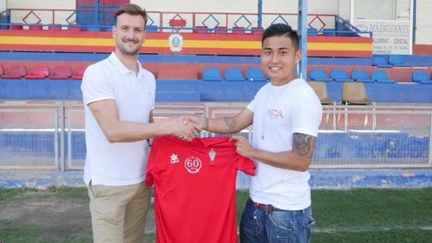
M206 130L206 118L185 115L171 120L171 135L183 141L192 141L201 130Z

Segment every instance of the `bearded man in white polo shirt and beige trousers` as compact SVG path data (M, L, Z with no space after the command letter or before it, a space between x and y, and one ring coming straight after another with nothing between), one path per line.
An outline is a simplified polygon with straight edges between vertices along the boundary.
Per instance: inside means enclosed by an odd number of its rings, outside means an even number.
M141 242L151 201L144 184L148 139L172 134L190 141L200 132L183 118L153 123L155 77L138 61L146 11L126 4L114 15L115 52L84 73L86 164L94 242Z

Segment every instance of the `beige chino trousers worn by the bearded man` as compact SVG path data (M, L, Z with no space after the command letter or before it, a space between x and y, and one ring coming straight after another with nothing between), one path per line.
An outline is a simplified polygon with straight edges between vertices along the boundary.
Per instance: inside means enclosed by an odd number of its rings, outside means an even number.
M142 242L151 187L88 185L93 242Z

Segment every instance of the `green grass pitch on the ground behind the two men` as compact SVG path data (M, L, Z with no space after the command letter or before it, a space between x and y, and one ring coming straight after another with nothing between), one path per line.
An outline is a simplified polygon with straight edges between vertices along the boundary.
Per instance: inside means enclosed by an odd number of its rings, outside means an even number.
M238 217L247 191L238 191ZM312 242L432 242L432 188L313 190ZM0 188L0 240L91 242L85 188ZM153 214L153 211L151 211ZM147 232L154 232L149 217ZM154 233L144 242L153 242Z

